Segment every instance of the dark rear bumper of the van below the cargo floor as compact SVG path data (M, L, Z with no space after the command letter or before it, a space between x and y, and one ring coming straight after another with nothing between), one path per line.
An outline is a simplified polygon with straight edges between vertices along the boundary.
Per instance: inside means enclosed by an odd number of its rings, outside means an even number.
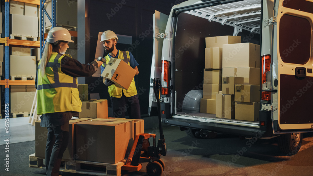
M162 122L172 126L179 126L185 128L203 129L208 131L215 131L218 133L234 134L244 137L256 137L264 138L265 131L260 130L260 128L249 128L247 126L239 125L228 125L222 123L212 123L212 122L200 122L190 119L182 118L162 118Z

